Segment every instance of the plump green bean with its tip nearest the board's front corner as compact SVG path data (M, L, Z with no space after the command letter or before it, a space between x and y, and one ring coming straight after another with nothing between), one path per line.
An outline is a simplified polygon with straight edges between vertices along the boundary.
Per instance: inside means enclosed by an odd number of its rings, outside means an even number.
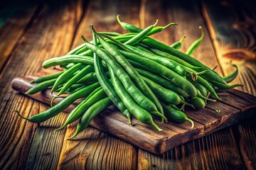
M114 86L115 91L117 91L117 94L121 98L121 100L124 103L124 106L128 108L128 110L134 115L135 118L137 118L142 123L145 123L146 125L152 125L157 130L161 131L161 129L154 123L154 120L152 119L152 116L150 113L148 113L144 108L140 107L130 96L130 94L127 93L126 89L124 89L124 85L121 81L117 78L117 76L114 74L111 67L108 67L110 71L110 77L112 79L112 83Z

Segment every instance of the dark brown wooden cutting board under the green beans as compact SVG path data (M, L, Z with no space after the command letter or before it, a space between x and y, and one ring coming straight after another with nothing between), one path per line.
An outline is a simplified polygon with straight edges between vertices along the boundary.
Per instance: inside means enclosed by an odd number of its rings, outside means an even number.
M48 73L39 72L29 77L18 77L12 81L12 87L24 94L34 86L29 81L43 74ZM29 97L49 104L53 95L50 94L50 90L46 90L29 95ZM195 123L193 129L191 129L190 123L173 123L170 121L161 124L160 120L156 120L156 124L163 130L158 132L150 125L144 125L135 118L132 118L133 125L129 125L127 118L121 115L115 106L110 106L97 115L90 125L149 152L162 154L173 147L226 128L245 118L256 118L255 96L235 89L219 91L218 95L223 101L208 102L206 108L198 111L186 109L185 113ZM56 98L55 104L60 101L61 98ZM65 112L69 113L75 106L76 103L65 109ZM215 113L215 109L220 110L220 113Z

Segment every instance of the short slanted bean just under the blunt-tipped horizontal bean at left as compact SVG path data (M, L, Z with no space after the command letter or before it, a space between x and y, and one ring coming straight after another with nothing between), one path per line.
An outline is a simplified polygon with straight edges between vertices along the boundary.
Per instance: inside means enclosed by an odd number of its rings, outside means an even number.
M63 84L65 81L67 81L67 79L70 79L71 77L73 77L73 75L78 72L78 70L82 69L82 64L78 63L75 64L73 67L70 67L70 69L68 69L66 72L63 72L63 74L61 74L57 80L55 81L55 84L53 84L52 89L50 90L51 92L55 91L55 89L58 88L58 86L60 84Z

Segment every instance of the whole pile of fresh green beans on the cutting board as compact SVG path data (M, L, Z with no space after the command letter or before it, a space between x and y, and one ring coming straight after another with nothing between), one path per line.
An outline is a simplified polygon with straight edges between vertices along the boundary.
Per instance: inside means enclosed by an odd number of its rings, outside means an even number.
M179 49L185 35L172 45L149 38L149 35L175 26L176 23L156 27L156 21L154 25L142 29L122 22L119 16L117 22L129 33L97 32L90 26L92 41L88 42L82 36L85 43L62 57L43 62L45 68L59 65L63 71L34 79L31 84L36 86L26 94L50 89L56 93L51 101L52 107L30 118L23 117L18 111L16 113L31 123L42 123L82 99L57 129L63 129L79 119L77 130L69 140L87 128L97 114L112 104L117 106L130 124L134 116L159 131L161 124L156 124L156 119L160 119L161 123L190 122L193 128L193 120L186 115L185 107L205 108L206 101L221 101L217 89L241 86L228 85L238 76L235 64L235 72L220 77L213 69L191 57L203 40L201 27L201 37L186 52L181 52ZM53 106L54 99L62 94L69 95Z

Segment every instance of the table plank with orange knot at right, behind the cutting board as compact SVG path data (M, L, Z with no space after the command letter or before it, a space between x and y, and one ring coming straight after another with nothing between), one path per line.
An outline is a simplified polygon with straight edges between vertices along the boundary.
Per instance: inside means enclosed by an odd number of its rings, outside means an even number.
M256 95L256 12L252 6L252 1L206 1L202 9L224 74L234 71L230 61L237 64L240 74L233 84L243 84L238 89Z

